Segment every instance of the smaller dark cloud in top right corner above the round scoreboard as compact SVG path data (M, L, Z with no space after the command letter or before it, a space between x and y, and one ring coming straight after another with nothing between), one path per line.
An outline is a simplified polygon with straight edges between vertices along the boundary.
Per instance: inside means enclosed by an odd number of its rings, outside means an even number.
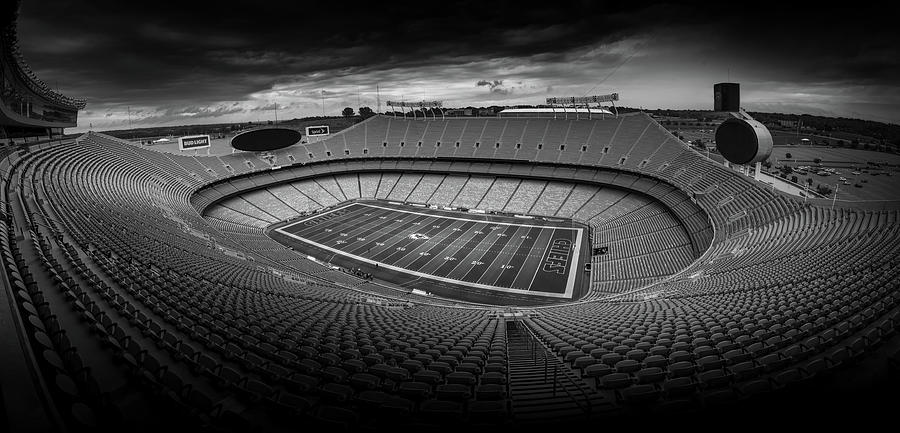
M853 81L895 84L900 73L900 33L879 5L837 8L759 5L697 22L710 46L756 62L762 74L804 82ZM690 32L691 28L682 29Z

